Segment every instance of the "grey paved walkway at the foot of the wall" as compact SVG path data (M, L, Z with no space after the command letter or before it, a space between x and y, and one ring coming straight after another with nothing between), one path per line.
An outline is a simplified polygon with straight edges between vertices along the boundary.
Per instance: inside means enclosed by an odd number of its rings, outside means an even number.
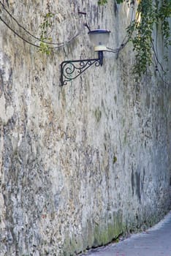
M151 229L87 253L91 256L171 256L171 211Z

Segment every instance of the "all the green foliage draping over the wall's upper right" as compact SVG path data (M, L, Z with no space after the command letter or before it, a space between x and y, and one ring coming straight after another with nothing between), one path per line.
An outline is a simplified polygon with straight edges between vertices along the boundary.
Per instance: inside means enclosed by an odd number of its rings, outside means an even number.
M129 7L134 8L134 0L116 0L117 4L126 2ZM107 0L99 0L99 5L107 4ZM147 68L154 61L156 62L156 70L158 68L164 73L164 69L159 62L156 54L156 49L153 45L153 29L161 27L161 33L164 38L164 47L168 49L171 45L171 32L168 18L171 16L171 1L170 0L139 0L137 4L137 15L131 21L126 33L129 40L133 43L135 51L135 64L133 72L139 77L142 76ZM165 56L167 59L167 54ZM160 67L158 67L160 66Z

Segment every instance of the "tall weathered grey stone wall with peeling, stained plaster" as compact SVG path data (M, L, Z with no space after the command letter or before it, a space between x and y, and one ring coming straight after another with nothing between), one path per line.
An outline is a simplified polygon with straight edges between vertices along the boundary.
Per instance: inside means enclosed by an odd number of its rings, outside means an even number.
M59 87L61 61L96 56L83 23L110 29L111 48L122 42L131 11L108 2L4 1L37 37L48 8L53 41L81 33L46 56L0 23L0 256L75 255L170 207L170 86L153 68L136 82L126 45ZM1 17L37 44L2 7Z

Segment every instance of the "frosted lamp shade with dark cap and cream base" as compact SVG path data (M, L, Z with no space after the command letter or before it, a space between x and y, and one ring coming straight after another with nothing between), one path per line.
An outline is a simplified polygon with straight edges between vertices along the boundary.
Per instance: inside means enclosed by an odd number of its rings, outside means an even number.
M94 50L106 50L109 41L110 31L106 29L95 29L88 32L91 42L95 46Z

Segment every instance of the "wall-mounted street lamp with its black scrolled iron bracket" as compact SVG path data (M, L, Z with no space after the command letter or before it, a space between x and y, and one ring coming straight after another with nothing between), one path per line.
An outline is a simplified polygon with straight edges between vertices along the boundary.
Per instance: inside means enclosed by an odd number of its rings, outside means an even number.
M110 37L110 31L106 29L89 30L88 35L94 45L94 51L98 52L98 58L63 61L61 63L61 86L65 86L67 82L80 76L93 64L95 67L102 66L103 51L107 50L106 44Z

